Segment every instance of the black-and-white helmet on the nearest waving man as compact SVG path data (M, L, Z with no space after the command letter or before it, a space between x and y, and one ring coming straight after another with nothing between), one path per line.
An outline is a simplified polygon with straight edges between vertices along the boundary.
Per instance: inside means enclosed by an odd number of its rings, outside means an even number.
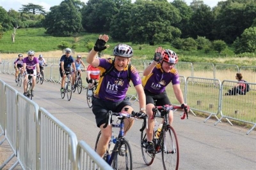
M133 50L129 45L119 44L115 46L113 55L131 58L133 56Z

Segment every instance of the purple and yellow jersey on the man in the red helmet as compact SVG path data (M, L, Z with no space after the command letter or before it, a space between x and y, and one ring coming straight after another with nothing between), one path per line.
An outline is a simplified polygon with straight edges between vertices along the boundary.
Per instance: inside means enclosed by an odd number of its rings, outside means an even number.
M142 85L149 92L161 94L171 81L173 85L180 83L178 71L173 67L169 73L165 73L161 64L157 64L152 73L143 77Z

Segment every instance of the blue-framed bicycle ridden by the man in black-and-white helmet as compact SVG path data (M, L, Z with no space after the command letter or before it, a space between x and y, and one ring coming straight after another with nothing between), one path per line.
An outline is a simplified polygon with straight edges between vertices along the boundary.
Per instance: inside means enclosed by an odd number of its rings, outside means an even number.
M127 111L128 108L125 108L125 111ZM110 123L112 115L115 115L118 120L120 120L120 124L116 122L116 124ZM124 138L124 119L125 118L143 118L143 127L141 128L141 131L143 131L147 125L147 115L145 113L136 113L132 111L131 115L128 113L115 113L113 111L108 111L107 115L107 121L106 124L103 126L104 128L107 127L107 125L111 125L112 127L118 127L120 128L118 137L115 138L115 141L113 140L113 143L115 143L115 146L113 147L113 150L111 150L111 140L109 141L108 149L106 150L106 153L104 154L103 159L108 162L108 164L113 169L132 169L132 153L131 153L131 146L129 145L129 142L127 139ZM117 121L118 121L117 120ZM99 132L96 143L95 143L95 151L97 150L97 143L99 141L101 135L101 131Z

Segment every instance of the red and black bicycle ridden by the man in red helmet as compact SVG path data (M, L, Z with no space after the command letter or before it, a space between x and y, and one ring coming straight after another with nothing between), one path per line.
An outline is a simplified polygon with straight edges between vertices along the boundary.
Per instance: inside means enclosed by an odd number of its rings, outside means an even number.
M188 107L189 108L189 107ZM142 157L147 164L150 166L156 153L160 153L162 155L162 162L164 169L178 169L179 168L179 143L178 138L175 130L173 129L172 125L169 124L168 116L170 110L182 109L181 106L172 106L172 104L166 104L164 106L155 106L153 108L153 116L152 119L156 117L156 113L160 110L161 118L164 119L163 126L161 128L161 132L159 138L157 139L153 135L153 143L155 146L155 153L148 153L147 152L147 133L141 131L141 152ZM185 117L188 118L188 112L184 112L181 119ZM157 131L156 131L157 132ZM156 132L153 132L155 134Z

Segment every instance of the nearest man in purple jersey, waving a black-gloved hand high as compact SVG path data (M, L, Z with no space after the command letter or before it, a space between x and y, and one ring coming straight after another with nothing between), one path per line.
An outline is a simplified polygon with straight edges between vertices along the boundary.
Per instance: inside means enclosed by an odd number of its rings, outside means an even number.
M99 67L100 73L105 72L113 66L113 69L111 69L108 74L100 77L99 85L92 99L92 111L95 115L97 126L100 127L101 131L101 137L96 152L101 157L103 157L106 152L112 133L111 125L108 125L106 129L103 128L103 125L106 123L106 113L109 110L121 112L124 111L125 108L129 108L128 111L125 112L131 114L133 110L131 103L125 100L126 92L129 87L128 65L129 62L131 62L133 50L129 45L119 44L116 45L113 50L113 55L115 56L114 60L97 59L97 53L107 48L105 45L108 39L108 35L100 35L94 48L87 57L87 62L93 67ZM140 111L145 113L145 94L141 85L141 78L134 66L131 66L130 78L139 97ZM131 128L133 121L134 120L125 119L125 132Z

